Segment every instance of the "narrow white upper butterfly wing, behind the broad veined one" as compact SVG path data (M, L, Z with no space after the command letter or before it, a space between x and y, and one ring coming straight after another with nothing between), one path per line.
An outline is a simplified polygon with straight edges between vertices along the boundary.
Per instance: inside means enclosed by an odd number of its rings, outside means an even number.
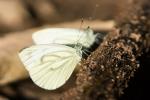
M71 28L48 28L35 32L32 38L36 44L77 44L89 47L96 35L91 29L78 30Z

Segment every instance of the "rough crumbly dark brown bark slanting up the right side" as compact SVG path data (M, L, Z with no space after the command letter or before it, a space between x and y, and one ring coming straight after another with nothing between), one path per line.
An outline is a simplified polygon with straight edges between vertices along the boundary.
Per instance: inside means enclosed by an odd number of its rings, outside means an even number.
M62 99L115 100L123 94L140 66L137 58L150 49L149 1L124 2L129 8L117 16L117 29L81 64L76 86Z

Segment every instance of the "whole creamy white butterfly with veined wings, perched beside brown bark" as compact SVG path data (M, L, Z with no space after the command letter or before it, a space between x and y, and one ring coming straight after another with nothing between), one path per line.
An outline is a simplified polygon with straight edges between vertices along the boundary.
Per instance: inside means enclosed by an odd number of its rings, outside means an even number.
M91 38L89 37L91 33L85 32L80 33L77 29L54 28L33 34L33 40L37 45L26 48L19 53L19 57L33 82L48 90L54 90L65 84L76 65L81 61L82 45L88 47L94 42L91 39L90 42L86 43ZM82 40L77 35L80 35ZM92 36L95 39L95 35ZM68 40L65 41L66 39ZM79 42L76 43L78 40ZM63 44L73 44L74 47Z

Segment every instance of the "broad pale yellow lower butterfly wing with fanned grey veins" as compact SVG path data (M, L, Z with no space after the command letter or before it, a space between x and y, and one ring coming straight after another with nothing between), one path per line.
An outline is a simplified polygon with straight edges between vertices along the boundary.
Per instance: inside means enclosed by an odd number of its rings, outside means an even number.
M53 90L62 86L81 60L76 50L64 45L36 45L19 54L38 86Z

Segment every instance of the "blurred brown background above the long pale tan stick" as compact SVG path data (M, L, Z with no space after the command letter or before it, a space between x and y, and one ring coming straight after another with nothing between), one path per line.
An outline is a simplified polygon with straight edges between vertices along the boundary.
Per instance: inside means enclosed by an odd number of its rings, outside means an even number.
M116 0L0 0L0 32L14 32L74 20L109 20Z

